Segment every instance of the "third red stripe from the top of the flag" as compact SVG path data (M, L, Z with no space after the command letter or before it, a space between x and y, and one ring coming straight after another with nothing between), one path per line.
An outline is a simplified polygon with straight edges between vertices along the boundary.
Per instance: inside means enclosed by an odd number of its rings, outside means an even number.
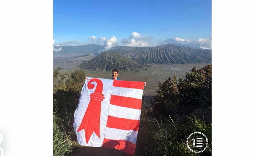
M123 129L123 130L139 131L139 120L108 116L107 127Z

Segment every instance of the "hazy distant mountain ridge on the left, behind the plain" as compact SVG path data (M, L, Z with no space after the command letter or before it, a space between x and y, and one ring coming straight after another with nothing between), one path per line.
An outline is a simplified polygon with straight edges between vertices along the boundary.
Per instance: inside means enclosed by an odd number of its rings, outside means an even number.
M57 54L97 54L104 46L88 44L83 46L53 46L53 55Z

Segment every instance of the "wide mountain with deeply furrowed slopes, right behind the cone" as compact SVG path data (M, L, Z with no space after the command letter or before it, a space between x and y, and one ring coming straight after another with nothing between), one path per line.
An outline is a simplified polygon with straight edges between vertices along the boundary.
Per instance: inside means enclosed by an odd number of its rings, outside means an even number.
M125 57L140 63L210 63L212 59L211 50L192 49L175 44L156 47L133 47L129 49L118 46L112 48L111 51L121 52Z

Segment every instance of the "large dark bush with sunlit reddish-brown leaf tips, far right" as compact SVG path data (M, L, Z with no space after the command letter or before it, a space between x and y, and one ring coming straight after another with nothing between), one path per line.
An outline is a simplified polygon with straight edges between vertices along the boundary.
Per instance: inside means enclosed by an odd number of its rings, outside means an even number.
M192 68L185 74L185 79L177 76L158 82L158 91L155 96L155 116L182 116L197 114L201 119L211 120L212 105L212 65L202 69ZM203 113L202 113L203 112Z

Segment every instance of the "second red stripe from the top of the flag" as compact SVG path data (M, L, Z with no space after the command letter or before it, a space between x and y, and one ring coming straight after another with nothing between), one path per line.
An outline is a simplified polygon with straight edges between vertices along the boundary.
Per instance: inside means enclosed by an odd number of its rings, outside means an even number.
M110 104L141 110L141 99L111 95Z

